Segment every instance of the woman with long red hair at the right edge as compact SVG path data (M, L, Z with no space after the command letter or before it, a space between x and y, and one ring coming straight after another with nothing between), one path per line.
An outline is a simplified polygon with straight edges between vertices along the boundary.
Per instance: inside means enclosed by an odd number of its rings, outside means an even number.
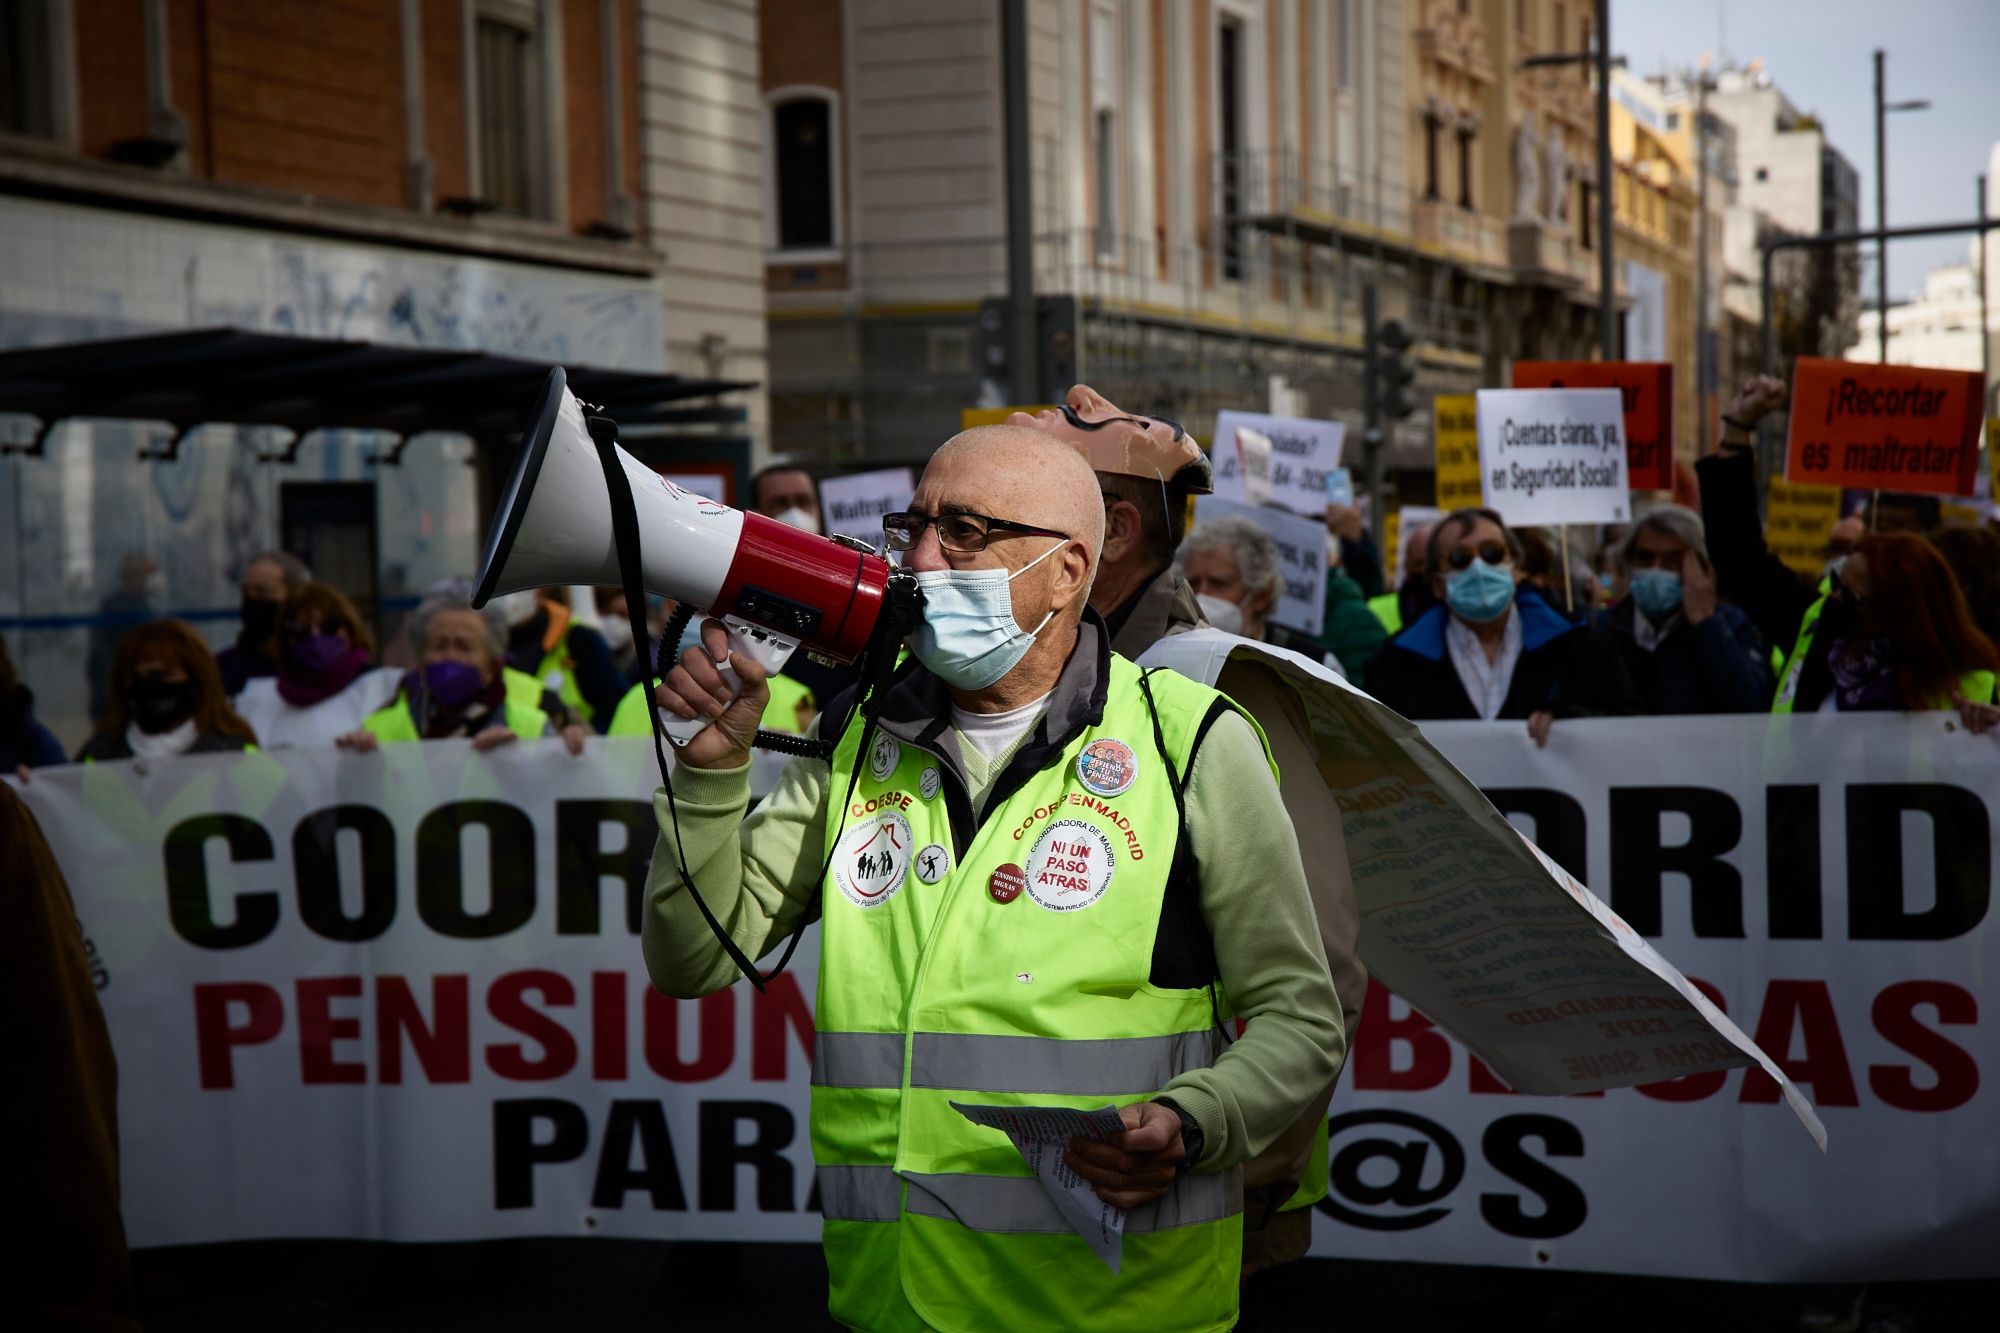
M1826 644L1828 689L1794 711L1956 709L1968 731L2000 723L2000 650L1972 622L1944 556L1922 536L1864 536L1840 570L1854 626ZM1810 632L1810 628L1808 628Z

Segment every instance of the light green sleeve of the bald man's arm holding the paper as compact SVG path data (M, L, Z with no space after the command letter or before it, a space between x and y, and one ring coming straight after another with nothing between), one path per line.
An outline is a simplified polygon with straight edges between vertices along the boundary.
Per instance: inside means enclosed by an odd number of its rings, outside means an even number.
M1264 747L1234 713L1194 759L1188 837L1216 969L1248 1027L1220 1061L1162 1093L1202 1127L1196 1169L1222 1171L1262 1153L1332 1083L1346 1031L1292 821Z

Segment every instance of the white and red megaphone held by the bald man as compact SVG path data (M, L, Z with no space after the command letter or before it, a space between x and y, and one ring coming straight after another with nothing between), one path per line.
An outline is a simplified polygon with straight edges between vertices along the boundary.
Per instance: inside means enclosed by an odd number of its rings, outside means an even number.
M730 646L766 671L784 666L800 644L842 662L862 654L886 604L888 560L682 490L626 450L616 454L644 536L648 592L718 616ZM472 604L558 584L624 584L604 466L562 366L548 372L522 434ZM738 689L728 666L722 677ZM666 731L686 743L706 725L670 719Z

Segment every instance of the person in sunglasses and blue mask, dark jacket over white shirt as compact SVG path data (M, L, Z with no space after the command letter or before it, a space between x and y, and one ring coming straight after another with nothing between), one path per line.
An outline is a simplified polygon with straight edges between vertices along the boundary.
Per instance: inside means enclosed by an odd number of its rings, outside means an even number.
M1438 604L1368 664L1368 693L1390 709L1416 723L1526 721L1536 747L1556 719L1642 711L1610 632L1524 586L1520 538L1498 512L1440 518L1426 564Z

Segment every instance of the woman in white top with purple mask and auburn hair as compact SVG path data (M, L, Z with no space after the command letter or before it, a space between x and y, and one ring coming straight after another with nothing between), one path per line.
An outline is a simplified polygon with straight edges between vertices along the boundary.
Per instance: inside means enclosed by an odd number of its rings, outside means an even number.
M402 673L374 666L374 634L338 588L308 582L286 596L278 632L278 675L236 697L266 749L332 745L396 697Z

